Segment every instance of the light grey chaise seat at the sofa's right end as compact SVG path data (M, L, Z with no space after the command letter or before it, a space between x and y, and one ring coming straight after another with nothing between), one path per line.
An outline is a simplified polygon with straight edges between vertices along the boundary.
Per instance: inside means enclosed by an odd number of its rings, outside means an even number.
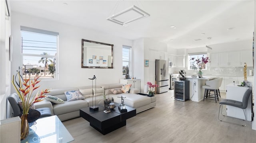
M111 94L114 102L121 103L120 96L126 97L124 98L124 105L130 106L132 108L139 108L151 103L151 98L148 96L143 96L139 94L131 94L131 93L122 93L122 94Z

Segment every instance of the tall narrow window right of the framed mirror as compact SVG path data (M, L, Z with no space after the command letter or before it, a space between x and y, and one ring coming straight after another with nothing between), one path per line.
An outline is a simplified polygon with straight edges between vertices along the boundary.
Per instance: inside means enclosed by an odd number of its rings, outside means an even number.
M130 69L130 67L131 67L131 64L130 64L131 63L130 62L131 49L132 49L132 47L123 45L123 51L122 51L122 53L123 53L123 69L122 69L123 76L126 75L126 67L128 67L128 69Z

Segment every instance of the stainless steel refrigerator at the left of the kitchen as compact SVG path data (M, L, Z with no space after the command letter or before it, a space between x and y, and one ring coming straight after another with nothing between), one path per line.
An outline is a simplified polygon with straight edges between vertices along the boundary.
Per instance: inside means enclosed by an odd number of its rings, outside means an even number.
M169 74L168 61L156 59L156 93L168 92L169 90Z

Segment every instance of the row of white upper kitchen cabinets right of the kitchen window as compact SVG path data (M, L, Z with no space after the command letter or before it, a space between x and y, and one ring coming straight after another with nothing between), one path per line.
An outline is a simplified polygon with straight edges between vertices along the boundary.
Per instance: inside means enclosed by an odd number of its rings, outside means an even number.
M251 51L230 51L210 54L210 67L252 67Z

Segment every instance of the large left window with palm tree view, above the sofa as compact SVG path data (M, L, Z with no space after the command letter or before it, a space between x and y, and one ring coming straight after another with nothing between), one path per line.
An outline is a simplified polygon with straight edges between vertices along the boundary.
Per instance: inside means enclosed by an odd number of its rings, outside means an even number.
M58 33L20 27L23 77L56 78Z

